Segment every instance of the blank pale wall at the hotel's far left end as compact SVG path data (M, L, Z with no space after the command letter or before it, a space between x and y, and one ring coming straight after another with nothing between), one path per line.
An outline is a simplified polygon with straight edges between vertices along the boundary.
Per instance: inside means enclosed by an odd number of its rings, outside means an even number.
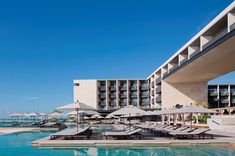
M74 102L80 101L97 107L97 80L75 80Z

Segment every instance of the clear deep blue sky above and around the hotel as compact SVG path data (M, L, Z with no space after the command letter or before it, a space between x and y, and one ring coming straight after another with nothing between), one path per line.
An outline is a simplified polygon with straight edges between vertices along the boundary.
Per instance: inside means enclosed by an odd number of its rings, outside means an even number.
M0 117L72 102L74 79L145 78L231 2L2 1Z

